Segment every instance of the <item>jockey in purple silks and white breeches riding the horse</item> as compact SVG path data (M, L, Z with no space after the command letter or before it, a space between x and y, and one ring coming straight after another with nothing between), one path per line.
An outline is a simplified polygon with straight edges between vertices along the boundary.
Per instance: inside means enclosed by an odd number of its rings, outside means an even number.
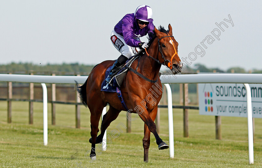
M140 5L134 13L125 15L115 25L110 39L114 47L121 52L121 56L115 61L105 79L107 83L113 77L113 70L124 65L131 56L137 53L135 48L148 48L148 43L141 42L139 37L147 35L148 32L153 32L155 26L153 25L152 14L150 7Z

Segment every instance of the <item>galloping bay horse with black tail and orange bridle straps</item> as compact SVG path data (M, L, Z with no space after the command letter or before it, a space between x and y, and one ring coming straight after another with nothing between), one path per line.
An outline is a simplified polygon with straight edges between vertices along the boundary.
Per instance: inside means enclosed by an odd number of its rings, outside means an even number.
M144 121L143 148L145 162L148 162L150 132L154 134L159 150L169 148L158 136L154 123L158 111L158 103L163 92L158 75L160 67L161 65L167 66L172 70L173 74L177 74L182 70L182 63L177 54L178 43L172 36L171 25L168 25L168 30L165 30L162 26L159 26L159 30L155 27L153 35L153 39L150 39L148 42L150 45L148 51L146 50L146 53L140 57L140 61L136 59L131 65L131 68L136 69L140 76L129 70L120 87L126 107L129 109L128 111L138 114ZM108 60L96 65L85 83L82 86L77 84L77 91L82 103L88 106L91 113L91 138L89 142L92 143L90 152L92 160L96 159L95 144L103 141L107 127L117 118L120 111L127 111L119 101L117 93L100 91L101 84L105 79L105 71L113 63L114 61ZM150 80L145 80L144 78ZM154 87L156 85L159 87ZM103 108L107 104L109 104L109 110L103 116L101 134L97 136L99 120Z

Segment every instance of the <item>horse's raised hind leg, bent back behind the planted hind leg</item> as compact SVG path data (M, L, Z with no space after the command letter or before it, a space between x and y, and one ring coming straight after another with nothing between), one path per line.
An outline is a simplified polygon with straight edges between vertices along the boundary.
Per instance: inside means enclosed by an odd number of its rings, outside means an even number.
M103 120L101 124L101 134L97 136L96 143L101 143L103 141L105 130L110 125L110 123L118 117L120 111L121 110L117 110L111 105L109 105L109 110L103 116Z

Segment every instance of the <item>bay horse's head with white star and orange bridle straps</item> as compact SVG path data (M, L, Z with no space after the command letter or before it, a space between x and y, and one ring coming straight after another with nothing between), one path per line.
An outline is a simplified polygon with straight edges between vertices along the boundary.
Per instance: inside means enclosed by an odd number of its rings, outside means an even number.
M178 43L172 36L172 27L168 25L167 33L160 32L155 27L155 33L158 38L158 60L172 70L175 75L182 70L182 63L177 54Z

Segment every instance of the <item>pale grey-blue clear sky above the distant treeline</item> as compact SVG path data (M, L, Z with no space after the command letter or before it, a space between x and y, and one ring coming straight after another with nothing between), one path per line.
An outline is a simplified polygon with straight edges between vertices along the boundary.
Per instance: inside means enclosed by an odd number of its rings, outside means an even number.
M110 34L124 15L143 4L152 8L156 27L171 24L187 66L262 69L262 1L243 0L0 0L0 64L115 60L120 53ZM221 22L224 31L216 25Z

